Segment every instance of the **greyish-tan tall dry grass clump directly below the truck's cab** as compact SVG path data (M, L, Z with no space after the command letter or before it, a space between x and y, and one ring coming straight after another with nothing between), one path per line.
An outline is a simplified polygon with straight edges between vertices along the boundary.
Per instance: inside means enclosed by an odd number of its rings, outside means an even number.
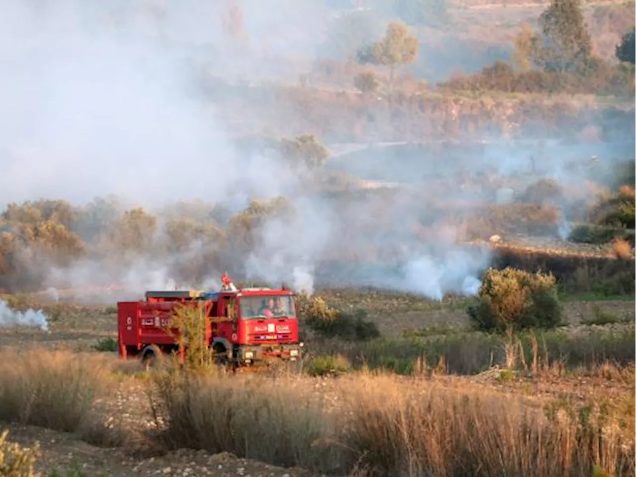
M232 452L280 466L333 470L340 460L322 439L334 434L306 380L158 371L155 412L171 448ZM303 385L297 385L297 384ZM161 427L161 425L160 425Z

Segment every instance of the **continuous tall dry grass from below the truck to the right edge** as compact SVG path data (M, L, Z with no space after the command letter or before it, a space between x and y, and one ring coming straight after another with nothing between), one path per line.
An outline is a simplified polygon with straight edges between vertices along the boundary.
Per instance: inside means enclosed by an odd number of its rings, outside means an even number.
M302 377L163 373L155 382L172 447L340 475L574 477L595 465L636 473L628 436L602 406L546 412L521 396L369 373L330 380L328 391Z

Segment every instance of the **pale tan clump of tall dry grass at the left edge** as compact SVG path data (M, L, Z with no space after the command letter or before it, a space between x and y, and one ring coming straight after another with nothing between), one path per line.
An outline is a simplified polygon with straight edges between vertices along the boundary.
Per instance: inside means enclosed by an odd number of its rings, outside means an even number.
M0 420L77 432L99 444L116 432L102 424L97 402L109 392L109 359L45 349L0 352Z

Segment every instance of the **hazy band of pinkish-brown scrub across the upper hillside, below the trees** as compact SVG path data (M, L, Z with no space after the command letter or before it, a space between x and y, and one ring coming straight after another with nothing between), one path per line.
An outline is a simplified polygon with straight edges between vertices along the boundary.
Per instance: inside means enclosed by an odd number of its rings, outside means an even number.
M327 142L480 140L495 133L504 137L576 137L593 123L601 125L602 139L612 140L636 130L636 116L629 103L612 104L609 99L609 104L604 104L593 93L572 96L553 90L546 96L461 89L464 91L441 88L410 92L396 87L391 95L382 93L371 100L355 91L263 86L258 98L252 99L253 92L228 86L219 101L230 116L235 111L251 111L250 123L239 134L268 124L277 134L298 135L310 130ZM277 102L261 100L261 96L275 97ZM276 109L289 112L284 121L279 113L272 114ZM244 124L244 118L240 119L243 122L239 124Z

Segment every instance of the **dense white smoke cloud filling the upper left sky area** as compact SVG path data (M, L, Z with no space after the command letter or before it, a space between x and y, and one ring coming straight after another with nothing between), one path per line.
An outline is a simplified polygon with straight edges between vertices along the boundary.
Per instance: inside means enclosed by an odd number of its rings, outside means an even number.
M284 192L268 180L275 167L235 155L188 74L186 46L144 34L150 13L79 1L22 5L4 2L0 20L0 204L111 193L147 206L214 202L239 182L245 193ZM185 9L166 11L166 25L156 20L168 38L189 32ZM207 13L218 31L215 12Z

